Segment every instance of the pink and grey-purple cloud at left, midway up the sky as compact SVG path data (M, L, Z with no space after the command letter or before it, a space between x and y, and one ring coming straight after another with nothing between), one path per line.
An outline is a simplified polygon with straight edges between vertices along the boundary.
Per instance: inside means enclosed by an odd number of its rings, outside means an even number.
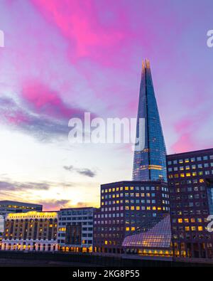
M80 107L67 105L60 93L38 81L26 82L21 95L0 97L1 122L41 142L67 139L72 117L82 119Z

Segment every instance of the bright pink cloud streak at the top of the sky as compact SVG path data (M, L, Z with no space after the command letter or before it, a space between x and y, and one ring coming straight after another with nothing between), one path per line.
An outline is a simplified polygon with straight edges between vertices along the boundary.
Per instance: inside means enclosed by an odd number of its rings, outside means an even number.
M58 27L62 35L70 41L71 48L75 46L75 55L78 58L89 55L99 58L109 48L118 47L127 36L122 28L106 28L101 25L94 1L33 0L33 4L50 23ZM73 50L70 49L69 53L74 58Z

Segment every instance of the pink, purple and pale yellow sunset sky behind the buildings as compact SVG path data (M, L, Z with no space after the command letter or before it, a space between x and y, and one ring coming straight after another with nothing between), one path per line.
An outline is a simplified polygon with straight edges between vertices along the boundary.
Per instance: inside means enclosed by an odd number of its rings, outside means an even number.
M212 0L1 0L0 200L99 206L124 144L70 144L71 117L136 117L148 58L168 153L212 147Z

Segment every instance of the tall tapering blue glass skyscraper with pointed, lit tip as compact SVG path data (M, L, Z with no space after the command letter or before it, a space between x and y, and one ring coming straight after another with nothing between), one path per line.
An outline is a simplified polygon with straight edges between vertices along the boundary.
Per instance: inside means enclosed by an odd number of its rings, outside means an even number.
M144 120L142 130L141 119ZM133 181L167 181L165 142L148 60L142 63L136 143L137 139L143 139L144 146L134 152Z

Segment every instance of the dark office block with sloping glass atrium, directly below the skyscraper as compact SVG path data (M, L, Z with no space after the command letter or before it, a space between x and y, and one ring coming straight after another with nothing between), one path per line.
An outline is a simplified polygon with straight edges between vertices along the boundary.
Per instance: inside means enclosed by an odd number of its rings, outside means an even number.
M169 193L163 181L119 181L101 186L101 208L94 215L94 252L98 253L140 253L148 255L159 250L158 255L170 255L170 242L164 247L146 245L148 231L158 242L171 239L169 214ZM163 220L165 220L163 223ZM158 226L157 226L158 225ZM165 226L167 228L165 229ZM140 233L146 233L143 237ZM139 234L139 235L138 235ZM133 239L139 247L129 244ZM144 238L144 240L143 240ZM142 240L141 240L142 239ZM146 245L146 247L143 247ZM162 252L160 252L162 250Z

